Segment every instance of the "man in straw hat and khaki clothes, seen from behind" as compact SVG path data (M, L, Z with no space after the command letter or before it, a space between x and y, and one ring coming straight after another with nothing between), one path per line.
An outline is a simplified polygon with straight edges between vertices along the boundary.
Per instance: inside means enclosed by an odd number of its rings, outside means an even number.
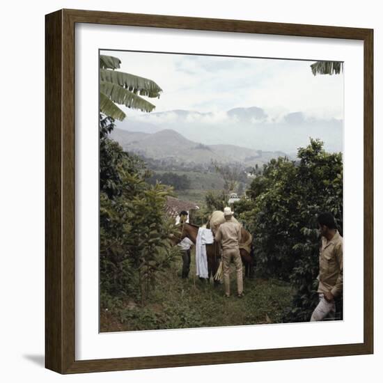
M224 270L225 297L230 297L230 262L233 260L237 273L237 294L244 296L242 281L242 260L240 255L241 226L233 219L230 208L224 208L225 222L221 224L215 234L215 240L221 243L222 267Z

